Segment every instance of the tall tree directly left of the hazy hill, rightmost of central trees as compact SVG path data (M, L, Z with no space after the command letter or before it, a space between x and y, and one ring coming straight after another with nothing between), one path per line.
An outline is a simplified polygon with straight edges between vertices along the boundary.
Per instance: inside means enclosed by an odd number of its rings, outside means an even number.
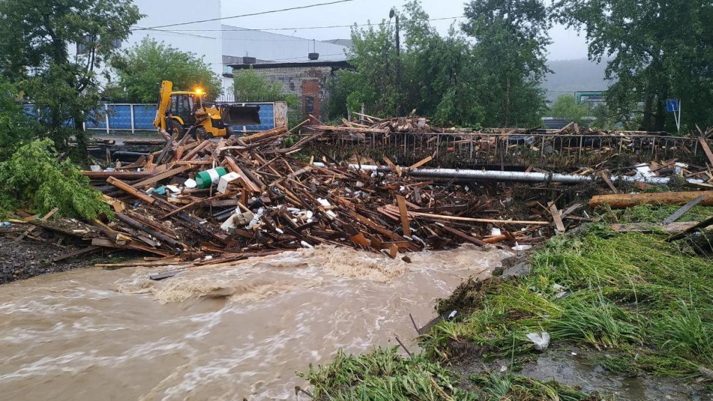
M545 108L540 83L551 26L543 0L478 0L466 4L463 31L475 38L474 60L488 90L486 124L534 125Z

